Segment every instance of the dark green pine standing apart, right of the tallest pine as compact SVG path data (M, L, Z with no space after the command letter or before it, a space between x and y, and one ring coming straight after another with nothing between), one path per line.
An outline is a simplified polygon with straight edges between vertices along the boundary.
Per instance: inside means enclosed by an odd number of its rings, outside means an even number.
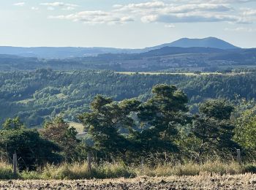
M200 105L200 115L195 116L192 132L200 140L197 161L213 156L233 156L239 145L233 140L235 126L230 121L233 107L224 100L208 100Z

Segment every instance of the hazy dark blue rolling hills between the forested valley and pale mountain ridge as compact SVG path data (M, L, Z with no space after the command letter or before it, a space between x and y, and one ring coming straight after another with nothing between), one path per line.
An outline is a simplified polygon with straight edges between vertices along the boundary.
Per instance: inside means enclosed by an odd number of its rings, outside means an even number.
M162 47L145 53L105 53L65 59L0 55L0 71L108 69L118 72L210 71L256 66L256 49Z

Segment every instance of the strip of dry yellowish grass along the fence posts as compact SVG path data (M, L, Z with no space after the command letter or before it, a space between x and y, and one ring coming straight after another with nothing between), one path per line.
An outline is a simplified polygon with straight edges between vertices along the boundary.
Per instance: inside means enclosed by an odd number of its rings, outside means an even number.
M126 166L121 163L94 164L89 171L87 163L61 164L58 166L47 165L38 171L20 171L18 175L12 175L12 166L1 163L0 179L23 180L78 180L78 179L106 179L106 178L135 178L139 176L168 177L184 175L200 175L208 173L212 175L238 175L256 173L256 164L238 164L236 161L224 163L221 161L207 161L204 164L188 162L185 164L158 164L155 167L149 165Z

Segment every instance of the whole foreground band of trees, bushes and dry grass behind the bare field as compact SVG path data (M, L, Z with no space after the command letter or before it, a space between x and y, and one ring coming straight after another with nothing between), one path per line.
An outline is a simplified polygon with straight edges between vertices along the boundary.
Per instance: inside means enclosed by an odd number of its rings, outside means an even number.
M1 164L0 178L130 178L140 175L219 175L255 172L256 104L208 99L197 113L176 86L159 84L141 102L97 95L78 116L86 137L57 116L42 129L7 118L0 129L0 158L18 156L17 176ZM233 162L241 150L242 164ZM91 170L81 164L92 157ZM80 163L80 164L78 164Z

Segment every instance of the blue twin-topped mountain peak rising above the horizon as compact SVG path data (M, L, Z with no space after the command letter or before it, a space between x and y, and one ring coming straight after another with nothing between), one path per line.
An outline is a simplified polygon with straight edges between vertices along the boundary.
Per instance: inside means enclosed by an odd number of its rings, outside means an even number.
M174 42L157 45L154 47L148 47L148 50L159 49L161 47L211 47L222 50L228 49L237 49L236 47L228 42L225 42L222 39L218 39L216 37L207 37L203 39L189 39L189 38L181 38Z

